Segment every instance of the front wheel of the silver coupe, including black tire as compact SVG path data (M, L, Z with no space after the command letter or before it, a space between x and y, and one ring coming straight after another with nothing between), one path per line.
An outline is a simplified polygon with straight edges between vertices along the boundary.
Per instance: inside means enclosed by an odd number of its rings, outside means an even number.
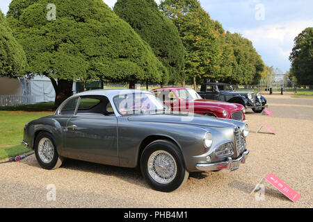
M162 157L165 158L163 163L168 167L156 165L157 160ZM162 192L171 192L178 189L189 176L179 148L172 142L163 139L152 142L143 150L141 154L141 173L152 189Z

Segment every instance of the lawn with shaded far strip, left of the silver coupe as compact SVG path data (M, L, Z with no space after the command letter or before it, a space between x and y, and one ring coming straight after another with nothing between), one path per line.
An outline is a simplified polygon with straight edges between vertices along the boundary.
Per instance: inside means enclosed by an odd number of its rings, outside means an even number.
M26 123L53 113L53 103L0 107L0 160L26 153L20 144Z

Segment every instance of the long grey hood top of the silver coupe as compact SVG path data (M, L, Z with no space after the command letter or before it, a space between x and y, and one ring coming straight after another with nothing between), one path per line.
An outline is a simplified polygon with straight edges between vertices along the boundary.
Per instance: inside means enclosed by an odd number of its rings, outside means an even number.
M197 126L211 126L216 128L225 128L239 126L242 124L240 121L218 119L214 117L205 117L203 115L192 115L186 113L179 114L150 114L150 115L135 115L128 117L129 121L150 121L158 123L177 123L189 124Z

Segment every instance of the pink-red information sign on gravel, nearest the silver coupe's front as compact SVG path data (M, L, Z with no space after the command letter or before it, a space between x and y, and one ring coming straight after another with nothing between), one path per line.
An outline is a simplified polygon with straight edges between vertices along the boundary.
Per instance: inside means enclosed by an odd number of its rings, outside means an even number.
M280 180L277 176L273 173L268 174L265 178L271 185L276 187L284 196L287 196L291 201L294 203L300 198L300 194L298 194L294 189L288 187L282 180Z

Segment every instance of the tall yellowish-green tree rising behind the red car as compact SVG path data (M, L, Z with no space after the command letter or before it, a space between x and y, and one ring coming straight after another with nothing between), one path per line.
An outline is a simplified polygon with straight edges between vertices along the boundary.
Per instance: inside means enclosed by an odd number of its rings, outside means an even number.
M210 18L198 0L164 0L160 8L172 19L182 37L186 76L193 79L194 85L197 78L218 78L223 64L220 24Z

